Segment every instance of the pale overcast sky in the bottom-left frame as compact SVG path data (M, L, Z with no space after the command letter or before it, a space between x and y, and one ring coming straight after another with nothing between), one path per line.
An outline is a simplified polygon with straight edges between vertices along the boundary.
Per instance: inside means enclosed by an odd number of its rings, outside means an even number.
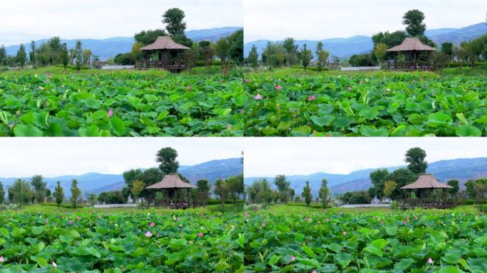
M238 158L242 151L232 138L1 138L0 177L119 174L157 166L155 154L167 146L177 150L179 165Z

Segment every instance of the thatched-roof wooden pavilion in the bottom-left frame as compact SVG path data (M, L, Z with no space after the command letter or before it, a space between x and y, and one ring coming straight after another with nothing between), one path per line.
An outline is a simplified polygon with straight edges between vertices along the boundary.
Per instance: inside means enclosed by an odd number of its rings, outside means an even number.
M175 192L179 189L187 189L187 199L177 199L175 198ZM182 181L182 179L177 174L169 174L162 178L159 183L152 184L146 187L147 190L154 190L154 198L148 200L149 206L154 207L165 207L165 208L189 208L191 206L191 194L192 188L197 188L190 183ZM162 200L157 200L156 193L158 190L166 191L167 198Z

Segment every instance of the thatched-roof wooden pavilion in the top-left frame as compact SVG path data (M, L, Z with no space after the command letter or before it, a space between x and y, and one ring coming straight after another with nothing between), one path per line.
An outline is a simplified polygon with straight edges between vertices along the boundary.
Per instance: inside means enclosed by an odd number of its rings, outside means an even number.
M135 68L156 68L171 71L183 70L185 66L182 61L182 53L188 49L190 48L172 41L171 36L159 36L154 43L140 48L142 52L146 53L147 58L137 62ZM151 59L154 54L157 54L157 60Z

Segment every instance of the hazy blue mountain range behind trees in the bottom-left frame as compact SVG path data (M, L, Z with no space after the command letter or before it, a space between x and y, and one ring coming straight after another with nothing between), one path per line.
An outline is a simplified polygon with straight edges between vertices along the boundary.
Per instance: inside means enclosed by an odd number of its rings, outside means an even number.
M194 166L179 166L179 173L189 179L192 183L196 183L199 179L208 180L211 185L219 179L225 179L229 176L238 176L244 172L244 166L241 159L219 159L206 161ZM20 177L25 181L30 181L30 177ZM4 184L6 190L7 186L10 186L14 181L18 179L16 177L1 178L0 182ZM56 176L50 178L44 178L47 182L47 187L54 191L57 181L61 181L61 186L64 188L64 194L66 197L70 196L70 183L71 180L78 180L78 185L83 193L102 193L104 191L117 191L121 190L125 186L122 173L120 174L105 174L105 173L85 173L79 176Z

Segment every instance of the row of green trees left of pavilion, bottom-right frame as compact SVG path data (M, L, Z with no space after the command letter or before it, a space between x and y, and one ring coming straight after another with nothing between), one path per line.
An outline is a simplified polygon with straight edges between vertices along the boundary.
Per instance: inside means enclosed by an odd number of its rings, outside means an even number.
M290 202L290 200L295 200L299 203L302 197L306 205L309 206L313 201L313 193L311 193L309 181L306 181L301 197L295 196L294 189L290 188L290 182L285 175L281 174L274 177L273 184L275 188L265 178L253 181L251 186L248 186L245 191L248 203L263 204L264 206L270 203L286 204ZM317 202L320 201L323 208L326 208L329 196L330 190L328 189L328 181L322 179L318 197L316 197L315 200Z

